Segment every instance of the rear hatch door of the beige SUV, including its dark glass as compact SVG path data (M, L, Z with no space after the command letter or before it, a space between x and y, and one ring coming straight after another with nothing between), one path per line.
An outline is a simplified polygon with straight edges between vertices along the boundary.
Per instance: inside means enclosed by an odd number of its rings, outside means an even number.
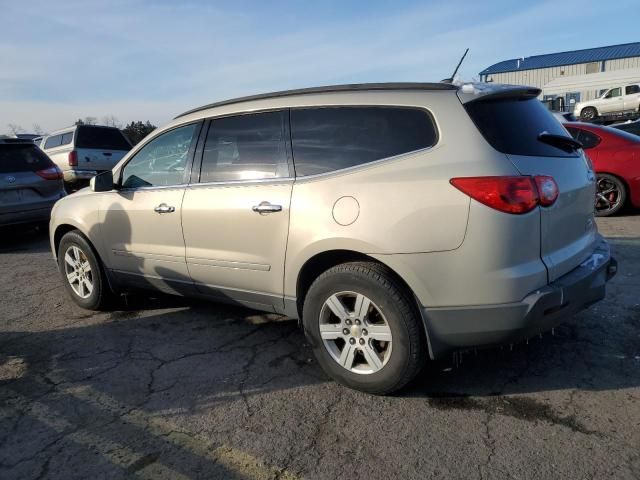
M485 139L522 175L548 175L560 191L550 207L538 207L541 252L549 281L589 257L597 239L593 217L595 174L584 152L536 98L536 89L481 95L465 108ZM566 137L569 141L564 141Z

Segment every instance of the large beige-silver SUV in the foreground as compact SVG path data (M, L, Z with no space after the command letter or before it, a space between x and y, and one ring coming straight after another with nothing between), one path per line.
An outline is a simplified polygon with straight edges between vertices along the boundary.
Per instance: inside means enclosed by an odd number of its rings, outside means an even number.
M388 393L427 358L604 297L595 176L538 94L369 84L207 105L59 201L51 248L85 308L142 287L282 313L329 375Z

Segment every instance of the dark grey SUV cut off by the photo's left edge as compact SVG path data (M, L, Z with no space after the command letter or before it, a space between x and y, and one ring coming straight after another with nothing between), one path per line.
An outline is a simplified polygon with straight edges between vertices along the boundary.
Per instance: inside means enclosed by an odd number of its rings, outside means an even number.
M62 172L31 140L0 139L0 226L48 222Z

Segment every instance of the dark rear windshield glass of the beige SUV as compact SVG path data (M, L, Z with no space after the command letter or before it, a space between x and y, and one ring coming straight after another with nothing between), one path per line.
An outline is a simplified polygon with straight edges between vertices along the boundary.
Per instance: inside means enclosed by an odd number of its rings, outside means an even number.
M477 100L465 104L465 108L487 142L502 153L540 157L577 155L538 140L542 132L568 136L560 122L538 99Z

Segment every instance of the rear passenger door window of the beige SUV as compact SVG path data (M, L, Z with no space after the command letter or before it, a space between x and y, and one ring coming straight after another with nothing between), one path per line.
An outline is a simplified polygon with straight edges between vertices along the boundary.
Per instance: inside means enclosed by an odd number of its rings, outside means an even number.
M289 176L286 112L211 120L200 182L228 182Z

